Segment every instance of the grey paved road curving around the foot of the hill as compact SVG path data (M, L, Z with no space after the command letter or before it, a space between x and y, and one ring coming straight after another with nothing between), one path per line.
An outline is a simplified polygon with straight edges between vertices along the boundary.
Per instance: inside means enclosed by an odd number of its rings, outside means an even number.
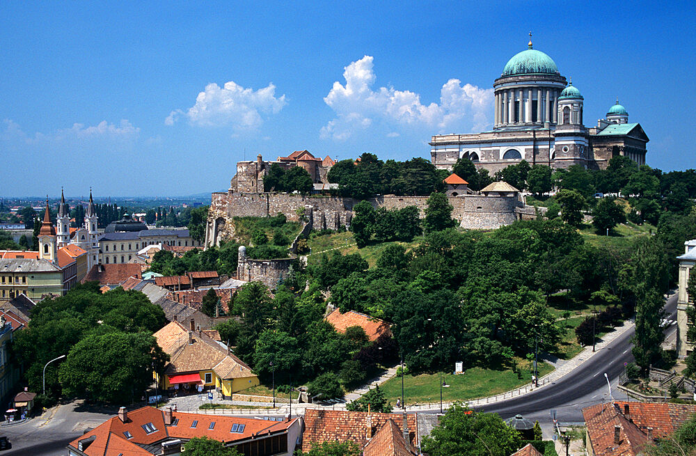
M677 315L677 296L667 299L665 318L674 320ZM676 331L674 325L667 326L665 333ZM634 329L626 331L601 352L595 354L590 361L583 363L569 375L562 377L551 386L545 386L533 393L513 398L495 404L481 407L486 411L496 412L503 418L522 414L530 419L538 419L539 423L551 424L550 410L557 411L560 422L583 422L583 407L601 402L608 395L607 382L604 373L612 382L614 398L626 398L616 388L619 374L624 371L624 363L633 361L631 354L631 337Z

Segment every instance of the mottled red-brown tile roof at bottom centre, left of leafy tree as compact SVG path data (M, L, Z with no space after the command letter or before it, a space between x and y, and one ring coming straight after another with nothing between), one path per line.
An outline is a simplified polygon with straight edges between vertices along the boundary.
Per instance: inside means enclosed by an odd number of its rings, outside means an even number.
M377 414L366 411L317 410L305 411L305 430L302 434L302 451L309 451L312 443L325 441L354 441L361 448L367 443L368 436L380 430L388 420L393 420L402 428L402 414ZM418 446L416 414L408 414L406 423L409 427L411 445Z

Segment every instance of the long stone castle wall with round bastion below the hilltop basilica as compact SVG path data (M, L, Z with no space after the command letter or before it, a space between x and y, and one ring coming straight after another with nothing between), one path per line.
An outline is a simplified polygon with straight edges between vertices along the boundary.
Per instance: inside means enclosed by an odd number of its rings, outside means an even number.
M374 207L403 209L416 206L420 217L425 217L427 196L385 195L368 200ZM519 219L535 217L533 207L525 206L519 196L466 195L449 198L454 207L452 217L461 228L492 230L509 225ZM303 196L276 193L235 193L232 191L212 194L205 233L206 245L219 245L221 239L235 235L233 217L269 217L285 214L290 221L299 221L300 215L311 207L312 223L309 229L349 226L353 207L358 203L353 198L338 196Z

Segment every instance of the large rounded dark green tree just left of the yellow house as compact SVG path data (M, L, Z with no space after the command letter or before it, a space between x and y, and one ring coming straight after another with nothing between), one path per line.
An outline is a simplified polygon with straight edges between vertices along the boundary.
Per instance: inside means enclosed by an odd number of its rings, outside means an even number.
M70 349L58 377L70 397L124 403L139 398L168 359L147 333L93 334Z

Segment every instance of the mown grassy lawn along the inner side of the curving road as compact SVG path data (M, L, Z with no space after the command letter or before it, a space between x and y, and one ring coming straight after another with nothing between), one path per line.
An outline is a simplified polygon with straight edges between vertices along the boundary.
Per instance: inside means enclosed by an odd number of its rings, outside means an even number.
M546 363L539 363L539 377L551 372L553 368ZM518 386L528 384L531 381L531 373L525 372L523 379L519 379L512 370L493 370L484 368L470 368L462 375L443 374L443 381L450 385L443 388L443 400L471 400L484 398L491 395L505 393ZM397 398L401 398L401 377L394 377L379 387L392 404L396 404ZM440 375L420 374L406 375L404 377L404 390L406 404L425 404L440 400Z

